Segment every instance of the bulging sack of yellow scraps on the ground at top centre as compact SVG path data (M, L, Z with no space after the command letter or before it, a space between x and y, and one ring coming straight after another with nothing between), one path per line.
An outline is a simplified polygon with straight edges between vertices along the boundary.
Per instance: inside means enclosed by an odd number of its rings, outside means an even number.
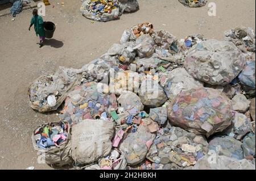
M105 3L108 3L108 1L106 0L103 0L103 1ZM96 20L98 22L108 22L110 20L119 18L119 16L121 15L119 14L118 3L117 3L117 7L112 6L111 12L103 12L103 13L92 11L94 3L95 1L93 0L84 0L84 2L82 2L82 5L80 7L80 12L82 13L83 16L85 16L85 18ZM102 4L102 7L100 7L100 9L103 9L104 11L104 7L105 6Z

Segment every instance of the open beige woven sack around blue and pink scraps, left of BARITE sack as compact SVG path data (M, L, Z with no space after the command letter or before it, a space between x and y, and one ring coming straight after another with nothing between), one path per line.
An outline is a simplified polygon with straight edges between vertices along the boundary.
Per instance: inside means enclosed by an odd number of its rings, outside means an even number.
M57 146L49 146L46 149L40 148L37 143L37 135L35 134L36 131L38 130L43 130L46 126L51 125L52 127L60 127L61 124L65 124L67 122L65 121L60 121L60 122L52 122L52 123L47 123L40 125L38 128L36 128L31 136L32 138L32 145L36 151L38 151L38 154L40 155L40 160L42 162L45 162L49 165L53 166L65 166L65 165L72 165L73 159L71 157L71 127L68 125L67 129L67 140L61 142L61 144ZM40 131L42 132L42 131Z

